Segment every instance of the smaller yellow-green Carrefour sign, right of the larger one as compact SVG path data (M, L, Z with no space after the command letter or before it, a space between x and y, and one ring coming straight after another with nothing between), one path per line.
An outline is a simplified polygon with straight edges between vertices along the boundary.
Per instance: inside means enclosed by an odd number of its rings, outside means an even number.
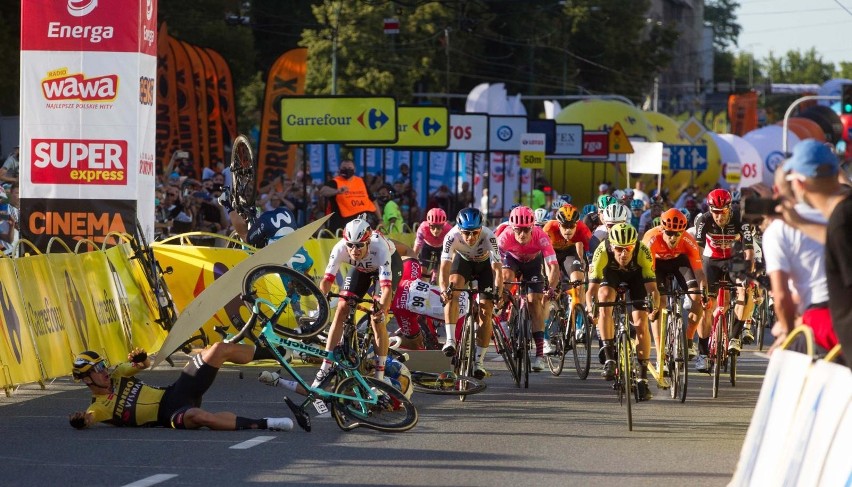
M399 107L396 144L372 144L410 149L445 149L450 145L450 111L446 107Z

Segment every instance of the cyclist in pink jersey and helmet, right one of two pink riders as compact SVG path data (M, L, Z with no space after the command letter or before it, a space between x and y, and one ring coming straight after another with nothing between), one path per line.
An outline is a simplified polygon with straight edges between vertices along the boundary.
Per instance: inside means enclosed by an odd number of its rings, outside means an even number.
M535 360L530 367L535 372L544 370L544 280L541 269L547 274L550 296L559 284L559 264L550 238L534 225L533 211L519 206L509 214L512 231L497 237L497 247L503 261L503 281L513 281L516 276L531 282L526 299L530 305L532 336L535 341ZM549 345L549 344L548 344ZM550 350L548 350L550 351Z

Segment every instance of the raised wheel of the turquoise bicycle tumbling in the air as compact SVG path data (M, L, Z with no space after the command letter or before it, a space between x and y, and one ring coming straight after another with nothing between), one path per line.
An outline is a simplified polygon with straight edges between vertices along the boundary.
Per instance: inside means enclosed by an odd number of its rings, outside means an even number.
M328 300L314 281L283 265L262 265L243 279L243 301L279 335L312 338L328 324Z

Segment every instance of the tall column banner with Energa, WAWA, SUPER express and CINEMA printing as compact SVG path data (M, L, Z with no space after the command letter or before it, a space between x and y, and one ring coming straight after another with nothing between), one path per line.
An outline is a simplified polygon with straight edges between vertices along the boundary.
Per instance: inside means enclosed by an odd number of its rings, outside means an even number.
M102 242L137 216L153 236L156 7L21 4L21 237L40 249L52 237ZM125 215L106 225L84 206Z

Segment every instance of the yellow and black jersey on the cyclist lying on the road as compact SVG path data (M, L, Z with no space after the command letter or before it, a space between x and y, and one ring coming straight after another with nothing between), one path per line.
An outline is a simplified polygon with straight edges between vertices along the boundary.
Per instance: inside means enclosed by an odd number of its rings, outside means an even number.
M115 426L157 426L160 400L166 390L136 379L138 371L129 362L115 368L109 376L114 392L95 395L86 410L95 421Z

